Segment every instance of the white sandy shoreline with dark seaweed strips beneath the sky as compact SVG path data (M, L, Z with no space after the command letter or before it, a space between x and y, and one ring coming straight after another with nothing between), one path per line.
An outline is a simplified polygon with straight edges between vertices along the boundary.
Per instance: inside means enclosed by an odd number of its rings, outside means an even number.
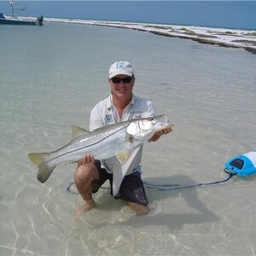
M142 32L151 32L165 37L190 39L200 44L215 44L221 47L242 48L256 55L256 31L250 30L108 20L44 18L44 21L133 29Z

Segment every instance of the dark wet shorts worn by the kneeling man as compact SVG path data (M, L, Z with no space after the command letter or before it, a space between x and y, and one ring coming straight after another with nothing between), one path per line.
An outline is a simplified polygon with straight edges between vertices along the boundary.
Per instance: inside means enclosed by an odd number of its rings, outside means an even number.
M108 173L104 168L102 168L99 160L96 160L95 165L99 172L100 179L99 181L93 182L92 192L96 193L102 184L109 180L111 187L110 194L113 195L113 174ZM114 198L147 206L148 199L143 186L141 173L133 172L130 175L125 176L120 185L119 195L115 196Z

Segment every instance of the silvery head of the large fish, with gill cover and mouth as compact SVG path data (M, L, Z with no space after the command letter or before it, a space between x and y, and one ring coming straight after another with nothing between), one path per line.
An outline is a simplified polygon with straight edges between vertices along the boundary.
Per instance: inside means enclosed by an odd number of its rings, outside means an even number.
M155 131L160 131L171 127L166 114L154 117L135 119L126 128L126 133L139 140L147 140L154 135Z

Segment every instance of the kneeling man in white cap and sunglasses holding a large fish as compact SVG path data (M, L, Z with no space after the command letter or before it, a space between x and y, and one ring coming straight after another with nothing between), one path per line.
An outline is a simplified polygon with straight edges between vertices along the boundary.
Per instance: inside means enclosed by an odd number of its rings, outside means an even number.
M135 83L134 70L128 61L114 62L109 68L108 82L111 95L96 104L90 113L90 131L103 125L110 125L128 119L146 118L154 116L155 109L152 102L133 95ZM171 132L171 128L157 131L149 141L155 142L163 134ZM95 160L93 155L87 154L79 160L75 172L75 183L79 194L84 199L76 216L95 206L92 193L102 186L108 179L111 185L111 195L116 199L127 201L128 206L137 213L148 213L148 200L141 178L143 146L132 150L124 165L120 165L116 157L108 160Z

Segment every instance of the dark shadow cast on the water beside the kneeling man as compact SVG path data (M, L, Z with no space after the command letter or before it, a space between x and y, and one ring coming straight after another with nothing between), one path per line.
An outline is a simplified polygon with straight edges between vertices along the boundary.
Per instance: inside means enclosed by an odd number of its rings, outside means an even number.
M175 189L177 186L175 184L181 184L180 186L193 185L195 181L185 175L174 175L172 177L150 177L144 179L145 183L154 183L156 185L160 184L174 184L170 188L173 190L161 191L158 189L147 189L146 193L148 195L148 200L154 205L154 202L163 200L165 198L177 197L181 195L186 201L193 213L164 213L153 208L148 215L143 217L132 216L126 219L125 222L120 224L129 225L137 227L142 227L145 225L166 225L169 230L182 229L184 224L202 224L202 223L213 223L218 221L218 217L214 212L211 212L198 198L195 187ZM203 188L201 188L203 189ZM156 207L157 208L157 207ZM166 211L165 211L166 212Z

